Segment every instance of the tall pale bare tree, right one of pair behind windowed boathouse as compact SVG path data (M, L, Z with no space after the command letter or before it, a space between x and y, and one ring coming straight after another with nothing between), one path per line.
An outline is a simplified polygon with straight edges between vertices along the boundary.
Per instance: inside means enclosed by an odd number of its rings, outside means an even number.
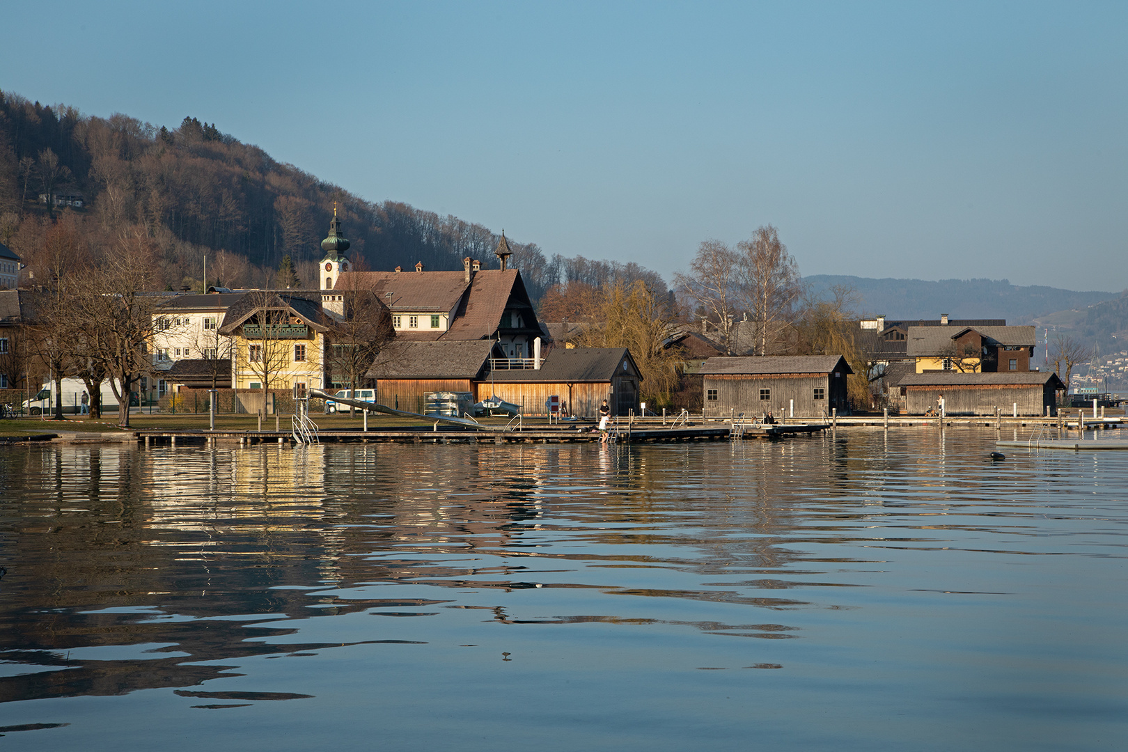
M802 294L799 266L770 224L738 244L740 302L756 325L757 354L767 355L768 335L788 321Z

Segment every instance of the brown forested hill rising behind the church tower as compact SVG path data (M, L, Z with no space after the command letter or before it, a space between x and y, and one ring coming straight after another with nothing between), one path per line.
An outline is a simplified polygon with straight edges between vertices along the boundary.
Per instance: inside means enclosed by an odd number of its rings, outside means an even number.
M42 227L47 214L65 211L49 209L41 195L76 194L86 204L72 210L81 222L144 227L158 246L161 277L174 287L200 282L204 251L212 282L265 284L289 255L299 277L311 284L334 201L352 241L350 256L369 268L423 262L429 269L460 269L465 256L487 268L497 264L499 237L481 224L364 201L214 124L186 117L169 130L120 114L87 117L73 107L0 91L0 241L32 258L42 232L27 223ZM590 272L592 264L603 272L625 268L581 257L548 259L536 244L509 241L511 264L534 299L561 277Z

